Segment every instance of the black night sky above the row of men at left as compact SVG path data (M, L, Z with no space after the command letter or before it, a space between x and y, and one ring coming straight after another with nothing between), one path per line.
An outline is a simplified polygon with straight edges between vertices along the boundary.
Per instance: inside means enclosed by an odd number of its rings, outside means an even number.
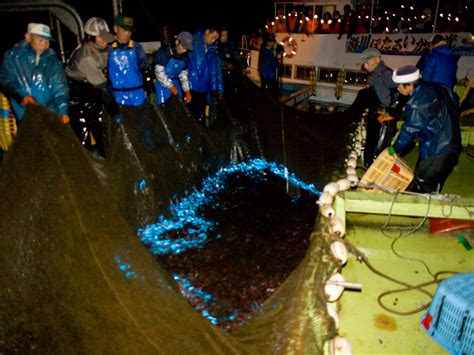
M30 0L31 1L31 0ZM109 26L113 25L113 7L111 0L66 0L74 7L86 22L88 18L104 18ZM231 38L240 42L241 34L252 34L265 24L267 17L273 17L272 0L246 1L173 1L157 0L122 0L123 11L135 18L136 32L133 38L137 41L158 41L160 26L167 25L175 34L187 30L193 32L207 25L226 26ZM0 58L5 50L11 48L23 38L29 22L49 24L46 12L0 13L0 21L8 28L0 43ZM112 28L111 28L112 29ZM75 45L74 36L63 31L66 53ZM52 43L53 48L56 44ZM55 48L57 49L57 48Z

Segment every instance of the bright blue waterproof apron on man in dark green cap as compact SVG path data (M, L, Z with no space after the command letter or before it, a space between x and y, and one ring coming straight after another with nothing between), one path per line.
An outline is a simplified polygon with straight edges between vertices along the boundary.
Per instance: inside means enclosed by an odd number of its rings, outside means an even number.
M120 105L140 106L145 101L142 72L148 67L140 43L115 41L109 47L108 73L115 101Z

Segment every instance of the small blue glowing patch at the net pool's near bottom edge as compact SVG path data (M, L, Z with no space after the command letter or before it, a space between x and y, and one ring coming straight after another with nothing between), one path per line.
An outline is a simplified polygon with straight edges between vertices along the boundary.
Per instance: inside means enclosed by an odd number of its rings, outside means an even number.
M230 310L223 314L212 314L209 309L219 308L220 310L225 310L229 308L225 304L218 304L218 301L210 293L205 292L204 290L193 286L193 284L184 278L181 275L174 274L173 278L178 282L181 288L181 294L186 299L192 299L194 304L194 309L200 312L204 317L209 319L212 324L219 324L221 322L233 321L236 319L238 312L236 310Z

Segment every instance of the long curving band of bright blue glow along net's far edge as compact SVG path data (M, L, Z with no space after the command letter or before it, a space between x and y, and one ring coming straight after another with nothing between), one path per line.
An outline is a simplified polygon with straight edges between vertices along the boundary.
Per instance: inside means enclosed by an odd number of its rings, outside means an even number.
M226 188L226 178L232 174L243 174L256 179L265 179L268 173L287 180L290 184L315 195L321 195L313 184L307 184L280 164L254 159L244 163L231 164L220 169L214 176L203 181L202 188L170 205L170 218L161 216L154 224L138 229L141 241L150 247L153 255L180 254L186 250L202 249L207 242L208 233L215 228L215 222L199 215L200 208L214 203L219 191ZM218 207L218 206L216 206ZM169 233L185 229L185 238L170 239ZM218 236L219 237L219 236Z

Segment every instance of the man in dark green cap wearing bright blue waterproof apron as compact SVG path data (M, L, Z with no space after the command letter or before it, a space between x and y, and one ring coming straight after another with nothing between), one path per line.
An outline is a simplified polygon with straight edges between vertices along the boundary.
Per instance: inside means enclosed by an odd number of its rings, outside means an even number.
M141 106L151 78L143 47L131 39L133 18L118 15L114 30L117 40L109 47L108 74L115 101L120 105Z

